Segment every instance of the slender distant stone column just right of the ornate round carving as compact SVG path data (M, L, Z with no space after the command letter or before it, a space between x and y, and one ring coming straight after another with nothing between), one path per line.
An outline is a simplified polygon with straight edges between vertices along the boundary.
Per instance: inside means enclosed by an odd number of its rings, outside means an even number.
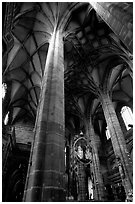
M102 174L100 170L100 161L99 161L99 155L98 155L98 143L99 143L99 137L95 134L92 119L89 118L89 121L87 121L87 129L88 129L88 135L89 140L91 140L91 146L92 146L92 172L94 177L94 199L95 200L104 200L104 184L102 179Z

